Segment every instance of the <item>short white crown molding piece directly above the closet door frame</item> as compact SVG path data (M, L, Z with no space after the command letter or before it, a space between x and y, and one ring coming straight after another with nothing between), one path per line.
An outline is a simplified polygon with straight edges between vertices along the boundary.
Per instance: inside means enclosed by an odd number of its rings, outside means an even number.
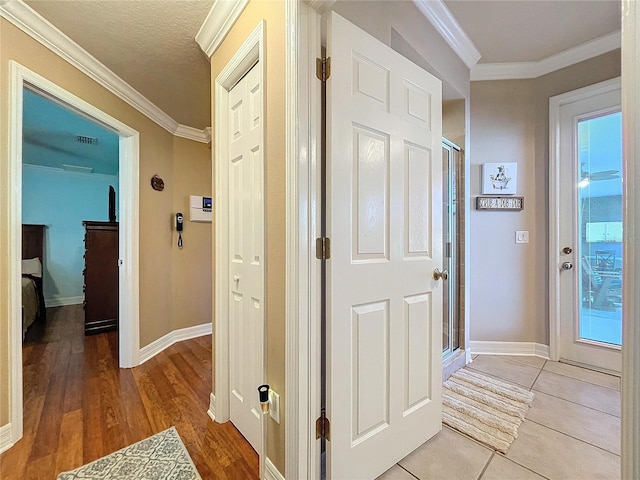
M207 56L215 53L249 0L216 0L196 33L196 42Z

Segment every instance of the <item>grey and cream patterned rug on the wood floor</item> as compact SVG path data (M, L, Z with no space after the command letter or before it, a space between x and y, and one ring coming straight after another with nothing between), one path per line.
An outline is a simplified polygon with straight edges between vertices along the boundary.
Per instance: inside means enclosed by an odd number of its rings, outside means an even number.
M145 438L58 480L201 480L175 427Z

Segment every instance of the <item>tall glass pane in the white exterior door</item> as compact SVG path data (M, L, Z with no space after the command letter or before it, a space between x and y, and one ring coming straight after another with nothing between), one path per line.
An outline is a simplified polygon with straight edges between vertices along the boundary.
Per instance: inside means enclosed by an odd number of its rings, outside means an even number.
M622 342L622 115L577 124L579 339Z

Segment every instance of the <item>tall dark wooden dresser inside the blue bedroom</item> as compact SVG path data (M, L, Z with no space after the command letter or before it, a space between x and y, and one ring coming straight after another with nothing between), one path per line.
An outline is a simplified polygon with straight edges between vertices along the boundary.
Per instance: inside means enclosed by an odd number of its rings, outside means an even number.
M84 333L118 329L118 223L82 222Z

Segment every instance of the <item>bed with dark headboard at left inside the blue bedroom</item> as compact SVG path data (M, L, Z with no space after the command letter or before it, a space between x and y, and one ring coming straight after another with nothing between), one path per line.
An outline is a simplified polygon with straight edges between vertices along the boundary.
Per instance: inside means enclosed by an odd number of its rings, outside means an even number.
M22 225L22 338L36 321L46 319L43 291L44 225Z

